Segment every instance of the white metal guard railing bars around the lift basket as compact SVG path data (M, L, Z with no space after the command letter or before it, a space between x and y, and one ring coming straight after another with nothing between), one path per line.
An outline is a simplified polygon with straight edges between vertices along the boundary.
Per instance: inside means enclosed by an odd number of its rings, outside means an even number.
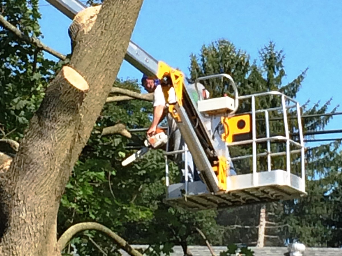
M273 107L273 108L267 108L267 109L257 109L255 102L256 99L259 97L279 97L279 106ZM251 111L244 112L241 114L251 114L251 122L252 122L252 136L251 139L247 139L244 141L237 141L227 144L228 148L234 147L234 146L243 146L243 145L252 145L252 154L249 155L239 155L231 157L231 160L238 161L242 159L252 159L252 185L258 186L258 180L257 180L257 172L261 171L272 171L272 157L278 157L278 156L285 156L286 157L286 163L284 170L287 172L287 180L286 184L290 185L291 183L291 155L299 155L300 154L300 172L301 172L301 187L305 188L305 147L304 147L304 139L303 139L303 131L302 131L302 122L301 122L301 113L300 113L300 105L295 100L291 99L290 97L278 92L278 91L270 91L266 93L258 93L253 95L246 95L246 96L239 96L238 97L239 104L244 101L250 101L251 104ZM289 110L294 110L295 115L297 116L297 125L296 128L298 130L299 134L299 141L296 141L290 137L289 132L289 124L288 124L288 118L287 118L287 112ZM271 112L277 112L277 116L282 116L282 127L284 134L278 134L278 135L271 135L270 131L270 113ZM239 113L240 114L240 113ZM263 136L258 135L258 126L257 126L257 114L263 114L265 116L264 120L265 123L264 129L266 132ZM258 119L260 122L260 119ZM260 125L259 125L260 126ZM260 126L261 127L261 126ZM168 130L169 135L169 130ZM298 138L298 136L297 136ZM260 143L266 143L266 152L258 152L257 151L257 145ZM271 143L285 143L285 151L282 152L272 152L271 149ZM292 147L295 147L295 149L291 149ZM168 145L167 145L168 148ZM169 186L170 180L169 180L169 169L168 169L168 156L173 154L180 154L187 152L187 148L185 150L177 150L177 151L171 151L165 153L165 159L166 159L166 186ZM186 154L187 155L187 154ZM266 170L257 170L257 159L260 157L265 157L267 161L267 167ZM186 159L185 159L186 160ZM297 159L298 160L298 159ZM187 170L187 161L185 161L185 194L187 194L188 191L188 170ZM237 174L239 175L239 174Z

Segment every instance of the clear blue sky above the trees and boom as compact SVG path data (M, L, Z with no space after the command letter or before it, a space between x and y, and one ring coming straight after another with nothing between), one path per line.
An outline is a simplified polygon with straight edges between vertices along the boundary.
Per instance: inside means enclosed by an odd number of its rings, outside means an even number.
M40 5L43 42L69 53L71 20L45 0ZM286 55L285 83L309 68L297 98L300 103L331 97L332 106L342 103L342 1L145 0L132 35L132 41L154 58L185 74L189 55L221 38L247 51L251 59L273 41ZM140 79L141 73L124 62L118 77ZM341 119L336 116L328 129L341 128Z

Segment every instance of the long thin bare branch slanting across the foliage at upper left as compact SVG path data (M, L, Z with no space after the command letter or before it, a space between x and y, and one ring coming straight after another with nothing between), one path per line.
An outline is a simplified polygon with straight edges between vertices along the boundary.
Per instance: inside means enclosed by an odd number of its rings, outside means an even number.
M61 59L61 60L65 60L66 56L58 53L57 51L55 51L54 49L51 49L50 47L44 45L38 38L36 37L28 37L27 35L25 35L24 33L22 33L19 29L17 29L15 26L13 26L11 23L9 23L7 20L5 20L5 18L0 15L0 23L8 30L12 31L18 38L20 38L21 40L32 44L40 49L43 49L45 52L50 53L51 55Z

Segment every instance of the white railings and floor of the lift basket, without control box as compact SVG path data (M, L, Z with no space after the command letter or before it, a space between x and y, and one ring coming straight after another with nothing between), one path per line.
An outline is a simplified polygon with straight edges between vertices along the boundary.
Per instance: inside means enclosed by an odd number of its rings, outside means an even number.
M256 109L255 102L259 97L274 96L280 98L280 105L275 108ZM188 183L176 183L167 185L166 203L180 206L186 209L203 210L222 207L233 207L237 205L276 201L280 199L291 199L306 195L305 192L305 161L304 161L304 139L302 133L300 105L295 100L279 93L271 91L266 93L258 93L254 95L246 95L238 97L239 102L251 101L252 116L252 139L238 141L226 144L227 147L252 145L252 154L231 157L232 161L241 159L252 159L252 168L250 174L240 174L227 177L228 188L226 191L217 191L209 193L203 182L197 181ZM290 137L287 111L295 109L297 111L299 142ZM272 136L270 134L269 112L279 111L284 122L284 135ZM265 137L257 138L257 122L256 114L263 113L265 115ZM267 152L258 153L258 143L265 143ZM285 143L286 150L284 152L271 152L271 143ZM295 149L291 150L291 146ZM180 153L185 151L167 152L167 155ZM301 175L291 173L291 154L300 153ZM286 164L284 170L272 170L272 157L286 156ZM267 158L266 170L257 169L257 159L259 157ZM181 192L183 190L183 193Z

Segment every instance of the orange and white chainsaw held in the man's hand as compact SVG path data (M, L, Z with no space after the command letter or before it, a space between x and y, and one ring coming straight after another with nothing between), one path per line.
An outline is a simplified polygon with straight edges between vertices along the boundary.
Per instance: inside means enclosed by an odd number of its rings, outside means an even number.
M136 159L142 158L143 155L145 155L150 149L158 149L162 146L166 145L168 141L168 136L166 133L162 130L157 128L156 134L154 134L151 137L148 137L144 141L144 147L135 152L133 155L127 157L125 160L121 162L122 166L127 166L131 162L135 161Z

